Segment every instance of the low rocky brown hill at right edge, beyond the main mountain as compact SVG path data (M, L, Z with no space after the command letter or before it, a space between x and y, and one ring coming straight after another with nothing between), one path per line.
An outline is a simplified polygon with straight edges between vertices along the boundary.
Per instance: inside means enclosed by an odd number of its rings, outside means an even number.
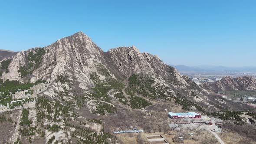
M254 79L252 76L243 76L237 78L227 76L214 84L203 84L202 87L223 91L256 91L256 79Z

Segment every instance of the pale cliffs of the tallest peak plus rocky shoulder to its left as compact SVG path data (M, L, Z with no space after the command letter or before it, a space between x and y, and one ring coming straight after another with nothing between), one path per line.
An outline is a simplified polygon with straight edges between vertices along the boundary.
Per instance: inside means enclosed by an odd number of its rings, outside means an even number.
M36 52L36 49L19 52L12 57L9 65L10 72L3 73L3 79L19 80L19 69L28 65L28 53ZM91 39L82 32L57 40L55 43L43 48L46 53L42 56L39 68L34 69L30 75L30 82L38 79L53 81L57 75L67 75L70 79L78 79L82 83L81 88L92 86L89 73L93 71L93 61L103 61L103 51L92 43Z

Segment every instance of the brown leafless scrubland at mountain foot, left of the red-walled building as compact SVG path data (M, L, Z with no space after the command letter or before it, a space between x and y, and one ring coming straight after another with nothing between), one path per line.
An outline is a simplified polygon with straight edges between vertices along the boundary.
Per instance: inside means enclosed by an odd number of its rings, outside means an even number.
M86 118L102 119L105 131L112 133L116 130L127 130L131 128L143 129L144 132L167 132L170 131L168 123L171 120L167 116L168 111L181 111L181 107L171 102L165 104L154 104L146 108L146 111L124 107L120 103L116 105L117 112L110 115L91 115L86 108L79 110L81 116Z

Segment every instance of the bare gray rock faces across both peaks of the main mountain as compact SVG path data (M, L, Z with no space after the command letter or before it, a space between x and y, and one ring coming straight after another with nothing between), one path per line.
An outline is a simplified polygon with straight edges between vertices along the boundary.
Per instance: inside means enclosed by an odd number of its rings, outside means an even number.
M10 72L3 72L4 80L19 80L21 82L35 82L38 79L54 81L57 75L67 75L70 80L76 79L82 89L89 89L94 84L89 79L91 72L97 72L95 62L102 63L115 79L124 80L131 74L142 73L156 78L163 85L172 88L186 88L189 84L173 67L164 64L157 56L140 53L135 47L118 47L103 52L84 33L75 33L57 40L44 47L40 65L33 72L22 78L18 72L21 66L27 66L29 52L36 53L36 49L19 52L11 59Z

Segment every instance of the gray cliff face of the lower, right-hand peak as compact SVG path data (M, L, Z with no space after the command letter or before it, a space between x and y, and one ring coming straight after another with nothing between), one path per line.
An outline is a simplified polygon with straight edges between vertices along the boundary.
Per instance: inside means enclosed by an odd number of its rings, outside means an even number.
M128 77L132 73L148 74L169 86L185 88L187 82L173 67L166 65L157 56L140 53L135 47L119 47L106 52L110 67L118 70L119 75Z

